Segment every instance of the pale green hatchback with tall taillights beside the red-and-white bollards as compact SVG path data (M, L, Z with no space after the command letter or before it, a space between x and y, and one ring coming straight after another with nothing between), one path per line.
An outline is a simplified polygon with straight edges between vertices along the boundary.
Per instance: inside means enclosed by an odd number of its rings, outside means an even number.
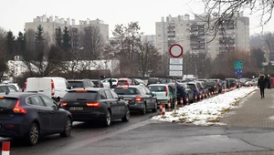
M167 105L168 101L170 101L172 104L171 106L174 106L174 100L177 98L177 93L170 84L151 84L148 88L156 95L158 104L162 102L164 105Z

